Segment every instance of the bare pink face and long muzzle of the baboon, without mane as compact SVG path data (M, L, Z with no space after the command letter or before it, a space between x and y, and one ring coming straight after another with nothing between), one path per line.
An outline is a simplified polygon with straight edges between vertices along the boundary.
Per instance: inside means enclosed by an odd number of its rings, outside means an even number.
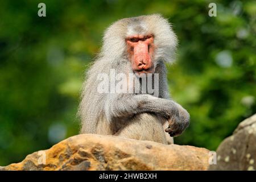
M127 52L131 67L135 73L154 73L154 37L152 35L134 35L126 38Z

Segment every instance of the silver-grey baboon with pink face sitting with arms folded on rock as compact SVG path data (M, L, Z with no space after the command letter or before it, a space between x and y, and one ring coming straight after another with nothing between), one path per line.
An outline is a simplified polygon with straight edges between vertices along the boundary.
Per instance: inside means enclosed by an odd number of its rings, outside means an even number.
M85 76L78 112L80 133L173 143L172 137L189 125L189 114L168 93L165 63L174 61L177 44L168 20L158 14L120 19L105 31L103 40ZM98 92L102 83L98 75L109 76L113 69L134 76L135 81L130 77L125 80L132 92L117 93L111 88L107 88L109 93ZM142 92L142 75L154 75L150 84L158 82L158 88L154 88L157 96ZM134 91L136 81L139 92Z

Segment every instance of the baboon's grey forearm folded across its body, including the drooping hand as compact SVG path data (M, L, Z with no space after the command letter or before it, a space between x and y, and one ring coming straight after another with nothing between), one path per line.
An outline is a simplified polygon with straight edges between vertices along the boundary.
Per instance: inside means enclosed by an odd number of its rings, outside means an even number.
M166 132L171 137L181 134L189 125L189 114L182 106L172 100L157 98L148 94L138 94L108 98L105 114L108 121L114 118L133 117L135 114L151 112L166 117L169 127Z

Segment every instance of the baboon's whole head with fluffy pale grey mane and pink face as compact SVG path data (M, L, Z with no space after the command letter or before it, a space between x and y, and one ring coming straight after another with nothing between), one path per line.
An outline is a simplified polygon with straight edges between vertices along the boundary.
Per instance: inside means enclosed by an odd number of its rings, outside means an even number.
M106 30L101 56L114 64L127 60L136 75L154 73L160 60L174 60L176 44L170 23L162 16L124 18Z

